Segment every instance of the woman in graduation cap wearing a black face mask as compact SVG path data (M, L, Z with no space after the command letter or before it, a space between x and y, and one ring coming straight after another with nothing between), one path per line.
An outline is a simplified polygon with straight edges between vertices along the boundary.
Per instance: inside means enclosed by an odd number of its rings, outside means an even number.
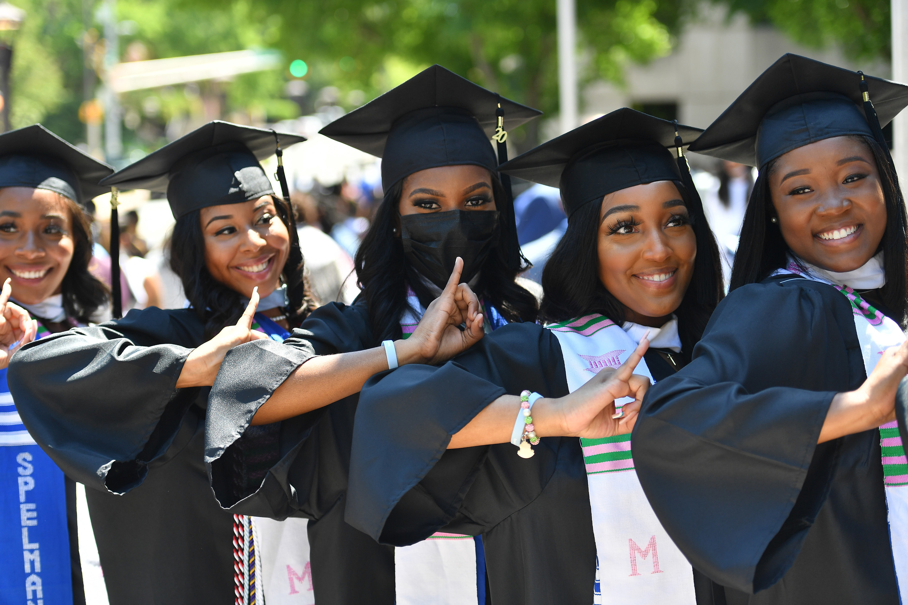
M496 127L504 131L536 115L435 65L322 130L382 158L385 198L356 258L362 295L350 306L321 307L282 346L233 349L212 389L206 429L222 506L311 520L311 586L320 605L442 605L465 594L483 602L483 551L470 536L436 536L421 551L395 551L344 522L352 421L372 373L419 359L439 363L483 327L536 319L536 298L515 281L524 265L489 141ZM475 336L458 349L416 355L425 346L414 327L458 257L460 280L481 299L464 333ZM387 356L382 352L355 388L313 373L313 364L334 354L368 356L383 341ZM318 356L310 360L313 351ZM262 375L252 384L238 381L233 368L249 364ZM323 397L337 403L307 414Z

